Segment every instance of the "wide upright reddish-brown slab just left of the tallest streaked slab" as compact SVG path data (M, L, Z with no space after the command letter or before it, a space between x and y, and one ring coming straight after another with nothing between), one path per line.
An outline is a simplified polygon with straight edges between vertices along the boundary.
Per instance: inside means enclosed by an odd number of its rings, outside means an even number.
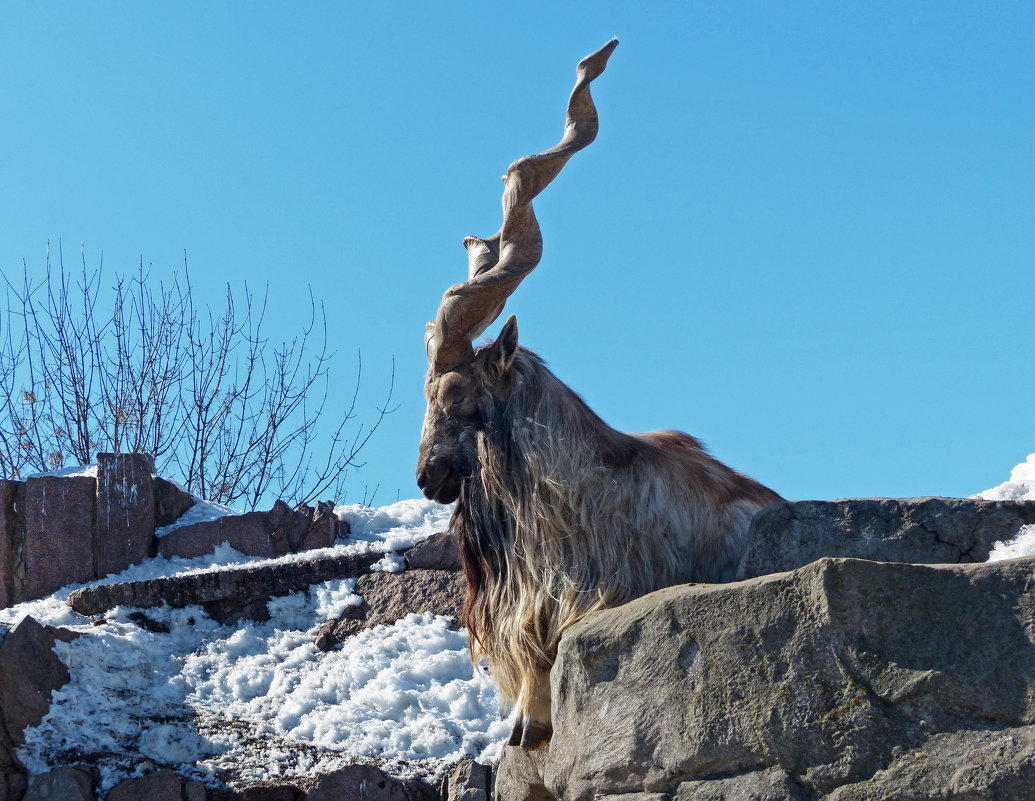
M36 476L25 482L25 583L18 600L41 598L94 577L97 494L89 476Z

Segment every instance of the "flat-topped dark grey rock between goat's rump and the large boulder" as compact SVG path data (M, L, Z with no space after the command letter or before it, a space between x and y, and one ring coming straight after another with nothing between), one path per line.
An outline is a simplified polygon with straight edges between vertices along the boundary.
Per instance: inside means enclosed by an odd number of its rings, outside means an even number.
M877 562L984 562L996 542L1035 523L1035 502L963 498L785 501L747 531L740 577L794 570L823 557Z

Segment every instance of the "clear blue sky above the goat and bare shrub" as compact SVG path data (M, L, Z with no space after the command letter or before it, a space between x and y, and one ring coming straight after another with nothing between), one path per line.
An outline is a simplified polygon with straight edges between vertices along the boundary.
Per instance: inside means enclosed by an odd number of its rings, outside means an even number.
M202 300L268 284L278 338L310 286L361 419L395 363L345 500L416 496L424 323L612 36L522 342L789 498L1005 480L1035 450L1030 2L4 3L0 269L185 253Z

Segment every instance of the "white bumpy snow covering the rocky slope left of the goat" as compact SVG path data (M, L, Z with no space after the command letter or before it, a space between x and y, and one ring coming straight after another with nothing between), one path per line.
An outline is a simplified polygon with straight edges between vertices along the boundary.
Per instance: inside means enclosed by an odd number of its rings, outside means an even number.
M205 514L232 510L205 508ZM396 550L442 531L450 509L423 500L335 510L352 534L322 554ZM260 561L226 545L200 559L151 559L94 582L134 581ZM79 585L85 586L85 585ZM284 780L376 761L397 776L435 777L461 759L492 762L509 731L492 679L471 663L467 632L448 618L411 614L323 653L321 624L360 602L355 580L334 580L269 602L270 620L221 626L199 606L116 607L100 625L54 595L0 611L80 633L55 652L71 680L55 691L19 758L33 774L89 756L101 791L153 767L217 784ZM153 625L157 624L157 625ZM168 631L161 630L161 626ZM158 629L158 630L150 630Z

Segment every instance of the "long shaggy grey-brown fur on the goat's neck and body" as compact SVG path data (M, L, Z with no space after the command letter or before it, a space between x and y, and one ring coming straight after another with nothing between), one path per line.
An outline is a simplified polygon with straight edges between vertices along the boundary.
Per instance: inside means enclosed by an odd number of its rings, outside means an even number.
M779 496L685 434L614 431L530 351L510 369L505 400L483 399L452 526L472 657L549 728L564 629L661 587L731 580L750 518Z

